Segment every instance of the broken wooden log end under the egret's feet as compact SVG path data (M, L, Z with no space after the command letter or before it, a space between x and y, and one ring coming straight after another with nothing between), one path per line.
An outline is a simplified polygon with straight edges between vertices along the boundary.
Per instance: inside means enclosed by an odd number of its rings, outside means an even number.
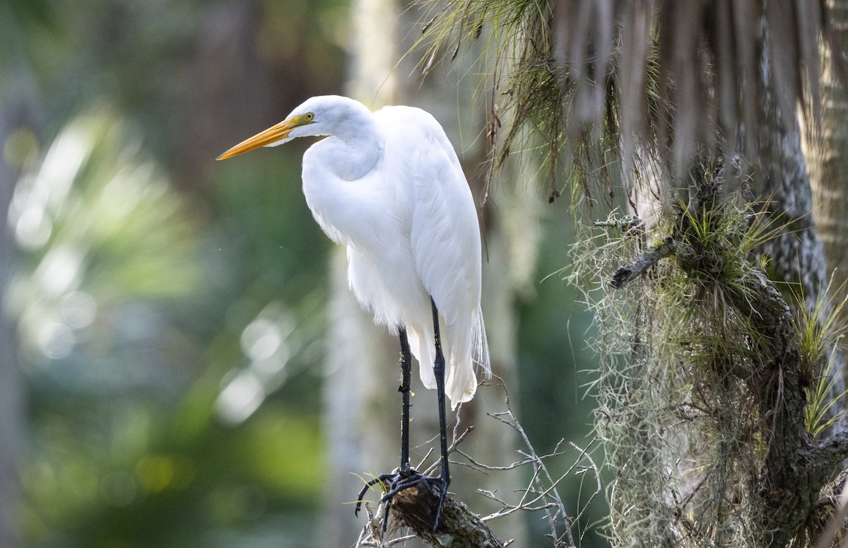
M483 520L450 495L444 497L438 528L432 523L438 508L438 487L421 481L392 500L392 516L434 548L503 548Z

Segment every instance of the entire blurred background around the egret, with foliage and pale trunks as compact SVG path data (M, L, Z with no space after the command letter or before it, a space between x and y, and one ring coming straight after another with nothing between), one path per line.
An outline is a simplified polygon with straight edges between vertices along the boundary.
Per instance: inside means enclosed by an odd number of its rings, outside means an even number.
M0 0L0 545L355 544L350 501L399 458L396 343L306 208L310 143L215 158L348 94L431 110L482 196L489 53L468 44L422 80L428 17L386 0ZM483 310L535 450L566 440L557 477L567 443L591 441L590 318L561 275L574 221L532 164L488 187ZM480 394L463 420L496 422L502 391ZM468 451L520 460L493 428ZM532 472L499 494L520 499ZM458 467L451 490L491 512L479 478ZM572 516L594 489L561 482ZM604 498L580 545L605 545ZM510 519L493 527L514 546L553 544L541 513Z

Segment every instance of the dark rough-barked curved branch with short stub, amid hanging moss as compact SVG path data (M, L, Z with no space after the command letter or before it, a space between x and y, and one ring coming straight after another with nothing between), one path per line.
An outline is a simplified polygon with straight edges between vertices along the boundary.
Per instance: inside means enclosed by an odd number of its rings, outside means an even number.
M700 187L689 210L716 215L719 202L717 194L711 194L716 189ZM700 221L695 224L704 226ZM736 362L737 367L744 364L745 369L733 373L744 379L756 399L756 415L765 424L763 441L767 447L762 468L751 470L748 496L756 520L751 529L757 535L757 545L788 545L811 516L834 467L848 456L848 435L834 433L817 442L806 431L809 376L804 371L795 319L783 294L765 272L754 266L728 279L714 260L705 262L709 250L700 249L689 217L680 215L677 226L673 237L617 271L611 285L622 288L632 281L629 273L639 270L634 266L654 266L658 260L673 257L691 279L703 278L704 283L719 280L728 304L746 319L752 348L747 360Z

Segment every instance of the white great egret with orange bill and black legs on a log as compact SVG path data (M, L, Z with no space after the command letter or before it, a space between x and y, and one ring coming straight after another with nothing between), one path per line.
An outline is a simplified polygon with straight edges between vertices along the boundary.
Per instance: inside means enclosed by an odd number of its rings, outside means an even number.
M400 338L400 468L371 484L388 480L382 498L387 504L421 479L438 484L440 510L450 483L444 396L453 408L471 400L477 389L473 362L489 372L480 310L480 228L468 182L432 115L403 106L372 113L335 95L306 100L286 120L218 159L310 136L327 138L304 154L306 203L326 235L347 246L350 287L360 304ZM410 468L410 349L421 381L438 391L439 478ZM433 528L437 525L438 512Z

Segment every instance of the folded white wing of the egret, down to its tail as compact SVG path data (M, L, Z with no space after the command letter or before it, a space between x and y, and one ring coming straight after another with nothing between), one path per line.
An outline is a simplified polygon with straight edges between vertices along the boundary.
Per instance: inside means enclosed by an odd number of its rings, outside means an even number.
M454 148L431 115L409 107L382 109L377 115L385 120L387 158L404 165L393 171L409 177L404 189L411 254L444 322L443 347L449 362L446 391L454 404L470 400L476 389L472 355L488 371L474 199ZM425 333L432 334L432 328ZM421 361L432 358L432 352L421 354Z

